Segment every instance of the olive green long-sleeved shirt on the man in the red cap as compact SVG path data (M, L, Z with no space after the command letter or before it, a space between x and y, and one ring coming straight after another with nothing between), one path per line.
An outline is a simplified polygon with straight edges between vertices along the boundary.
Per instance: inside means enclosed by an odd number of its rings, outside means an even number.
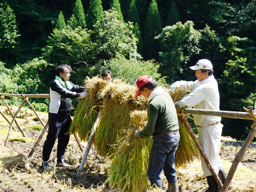
M176 109L171 96L164 91L149 101L148 123L139 136L147 138L154 132L175 130L179 130Z

